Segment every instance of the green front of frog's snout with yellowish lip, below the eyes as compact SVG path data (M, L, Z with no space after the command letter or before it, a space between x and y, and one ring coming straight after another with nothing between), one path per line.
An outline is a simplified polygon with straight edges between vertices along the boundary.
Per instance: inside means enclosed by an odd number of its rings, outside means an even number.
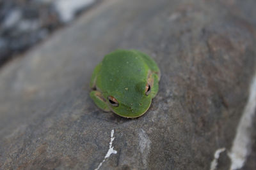
M148 108L150 108L152 99L144 101L143 103L136 103L136 105L129 106L128 104L120 104L118 108L112 108L112 111L125 118L136 118L144 115Z

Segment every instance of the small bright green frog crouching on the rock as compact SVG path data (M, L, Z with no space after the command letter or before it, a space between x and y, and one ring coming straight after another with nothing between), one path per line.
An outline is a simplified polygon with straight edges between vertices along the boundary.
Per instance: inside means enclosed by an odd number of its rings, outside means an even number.
M105 55L93 70L90 97L103 111L141 117L157 95L160 77L159 67L149 55L118 49Z

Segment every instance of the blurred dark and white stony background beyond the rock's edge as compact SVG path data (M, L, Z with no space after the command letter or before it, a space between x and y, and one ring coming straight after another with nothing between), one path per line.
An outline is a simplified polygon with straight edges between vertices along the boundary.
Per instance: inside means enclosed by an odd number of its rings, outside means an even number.
M0 0L0 67L100 0Z

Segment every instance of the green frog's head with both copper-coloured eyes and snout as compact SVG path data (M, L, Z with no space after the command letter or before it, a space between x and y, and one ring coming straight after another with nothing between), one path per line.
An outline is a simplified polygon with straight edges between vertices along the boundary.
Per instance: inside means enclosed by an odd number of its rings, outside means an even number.
M158 87L154 87L154 83L148 81L129 82L120 86L120 89L110 92L107 103L109 108L121 117L140 117L150 107Z

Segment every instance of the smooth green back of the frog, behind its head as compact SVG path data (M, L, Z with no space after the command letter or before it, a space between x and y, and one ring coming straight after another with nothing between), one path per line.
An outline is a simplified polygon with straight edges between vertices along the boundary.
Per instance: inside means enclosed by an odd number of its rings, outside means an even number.
M100 78L97 81L102 91L115 91L147 81L148 65L140 54L132 50L116 50L102 60Z

